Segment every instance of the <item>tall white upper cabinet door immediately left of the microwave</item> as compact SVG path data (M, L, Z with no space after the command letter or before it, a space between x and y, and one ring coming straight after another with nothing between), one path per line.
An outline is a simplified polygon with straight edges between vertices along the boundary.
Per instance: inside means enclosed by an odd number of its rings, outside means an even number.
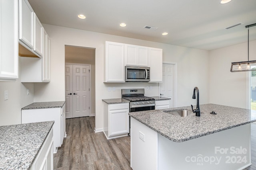
M106 41L104 82L124 82L124 44Z

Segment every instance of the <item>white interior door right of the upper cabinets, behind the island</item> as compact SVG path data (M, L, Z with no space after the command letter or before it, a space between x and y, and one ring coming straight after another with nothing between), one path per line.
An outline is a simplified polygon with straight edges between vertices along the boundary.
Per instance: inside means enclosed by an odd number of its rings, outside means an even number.
M160 96L171 98L170 107L174 107L174 65L163 64L163 81L159 83Z

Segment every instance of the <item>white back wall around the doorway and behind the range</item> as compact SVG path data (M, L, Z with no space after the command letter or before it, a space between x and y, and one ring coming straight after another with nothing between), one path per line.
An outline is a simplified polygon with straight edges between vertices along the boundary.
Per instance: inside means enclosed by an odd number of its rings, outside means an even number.
M96 129L103 127L102 99L120 98L122 88L146 88L148 83L103 83L105 41L142 45L163 49L163 61L178 63L178 106L196 104L192 99L194 86L200 90L200 103L209 102L208 94L208 51L178 47L163 43L120 37L43 24L51 39L51 82L35 84L34 102L63 101L65 45L91 47L96 49ZM146 90L145 96L158 96L158 83L151 83L152 90ZM108 87L116 91L108 92Z

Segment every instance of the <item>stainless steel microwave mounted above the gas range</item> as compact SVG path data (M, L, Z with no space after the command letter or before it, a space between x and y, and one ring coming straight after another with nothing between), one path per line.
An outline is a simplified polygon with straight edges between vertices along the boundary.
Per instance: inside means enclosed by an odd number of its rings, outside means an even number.
M125 66L126 82L149 82L150 67Z

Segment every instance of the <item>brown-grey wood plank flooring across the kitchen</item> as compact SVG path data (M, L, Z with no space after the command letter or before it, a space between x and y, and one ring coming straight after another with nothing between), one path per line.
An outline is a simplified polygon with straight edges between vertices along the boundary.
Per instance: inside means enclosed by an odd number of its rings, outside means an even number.
M54 170L132 170L130 137L107 140L94 133L94 117L66 119L67 137L54 154ZM252 165L256 170L256 124L251 124Z

